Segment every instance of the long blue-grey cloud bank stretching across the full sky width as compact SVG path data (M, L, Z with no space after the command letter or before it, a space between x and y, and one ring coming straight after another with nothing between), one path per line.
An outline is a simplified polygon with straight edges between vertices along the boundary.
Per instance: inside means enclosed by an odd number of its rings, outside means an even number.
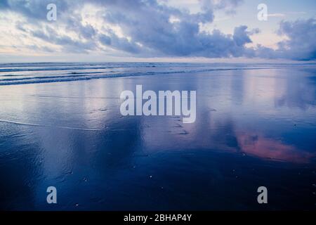
M49 3L58 6L55 23L46 20ZM27 23L22 20L15 23L16 29L29 38L59 46L63 52L114 50L135 57L315 60L315 19L282 22L279 34L287 40L279 42L277 50L261 45L249 48L246 45L252 42L251 35L257 34L258 29L248 30L246 25L240 25L233 34L200 30L201 24L213 22L214 11L232 13L242 1L201 0L200 4L201 11L190 13L156 0L4 0L0 11L22 15ZM86 5L98 9L95 20L99 20L101 26L83 18L81 9Z

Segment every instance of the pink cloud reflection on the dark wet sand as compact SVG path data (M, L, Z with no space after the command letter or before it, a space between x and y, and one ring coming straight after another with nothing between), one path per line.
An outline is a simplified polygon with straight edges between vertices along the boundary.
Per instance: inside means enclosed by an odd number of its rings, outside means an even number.
M289 146L281 141L265 138L258 134L239 134L237 140L244 153L260 158L282 160L287 162L307 163L314 154Z

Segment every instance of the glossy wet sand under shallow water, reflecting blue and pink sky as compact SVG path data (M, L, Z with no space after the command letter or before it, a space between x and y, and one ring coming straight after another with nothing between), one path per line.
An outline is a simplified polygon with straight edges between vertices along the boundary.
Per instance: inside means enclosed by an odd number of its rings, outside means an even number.
M315 209L315 66L180 66L174 74L164 65L141 68L150 76L0 84L0 208ZM196 122L122 117L121 91L136 84L196 90ZM46 203L48 186L58 190L56 205ZM266 205L257 203L259 186L268 188Z

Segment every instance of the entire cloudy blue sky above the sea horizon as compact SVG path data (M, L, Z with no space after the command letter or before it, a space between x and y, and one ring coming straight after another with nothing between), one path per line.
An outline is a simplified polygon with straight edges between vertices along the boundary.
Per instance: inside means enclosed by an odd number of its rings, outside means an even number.
M47 14L56 6L56 20ZM259 20L259 4L267 20ZM315 0L0 0L0 63L315 62ZM52 14L49 14L52 15Z

